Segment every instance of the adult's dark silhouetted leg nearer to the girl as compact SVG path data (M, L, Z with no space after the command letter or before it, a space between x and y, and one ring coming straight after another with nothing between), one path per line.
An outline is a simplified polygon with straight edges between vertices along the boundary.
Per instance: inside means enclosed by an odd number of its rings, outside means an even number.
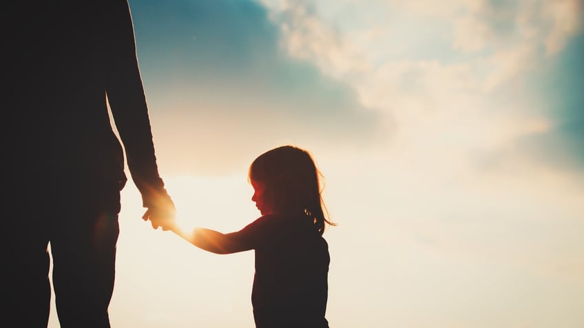
M51 239L59 322L110 327L120 192L115 184L79 179L65 184L59 225Z

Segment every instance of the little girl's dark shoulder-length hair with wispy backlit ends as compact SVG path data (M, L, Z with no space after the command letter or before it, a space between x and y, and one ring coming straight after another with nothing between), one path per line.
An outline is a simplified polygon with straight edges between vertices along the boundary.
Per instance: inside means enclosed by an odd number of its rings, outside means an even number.
M312 156L296 146L280 146L263 153L251 163L248 174L250 181L264 185L275 210L302 213L320 234L325 224L336 226L328 219L322 201L321 178Z

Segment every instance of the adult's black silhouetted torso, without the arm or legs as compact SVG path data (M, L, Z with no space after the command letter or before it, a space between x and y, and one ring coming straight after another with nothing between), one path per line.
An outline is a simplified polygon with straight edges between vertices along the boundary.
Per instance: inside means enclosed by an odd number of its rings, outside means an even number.
M3 142L14 168L123 174L105 97L107 6L19 2L5 32L11 133Z

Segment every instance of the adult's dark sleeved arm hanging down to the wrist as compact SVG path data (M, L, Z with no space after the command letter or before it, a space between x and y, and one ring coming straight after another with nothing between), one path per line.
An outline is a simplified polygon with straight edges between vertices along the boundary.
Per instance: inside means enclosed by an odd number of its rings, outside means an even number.
M168 195L158 174L129 5L127 0L102 0L100 4L105 10L105 91L143 206L156 206L160 197Z

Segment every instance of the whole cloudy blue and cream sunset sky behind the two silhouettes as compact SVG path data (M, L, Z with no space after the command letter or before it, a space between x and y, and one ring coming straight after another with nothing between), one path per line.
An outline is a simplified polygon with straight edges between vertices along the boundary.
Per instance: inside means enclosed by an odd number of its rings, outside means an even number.
M256 219L249 164L295 144L338 223L331 327L583 327L583 1L129 5L185 229ZM142 214L129 183L112 327L253 327L253 252Z

